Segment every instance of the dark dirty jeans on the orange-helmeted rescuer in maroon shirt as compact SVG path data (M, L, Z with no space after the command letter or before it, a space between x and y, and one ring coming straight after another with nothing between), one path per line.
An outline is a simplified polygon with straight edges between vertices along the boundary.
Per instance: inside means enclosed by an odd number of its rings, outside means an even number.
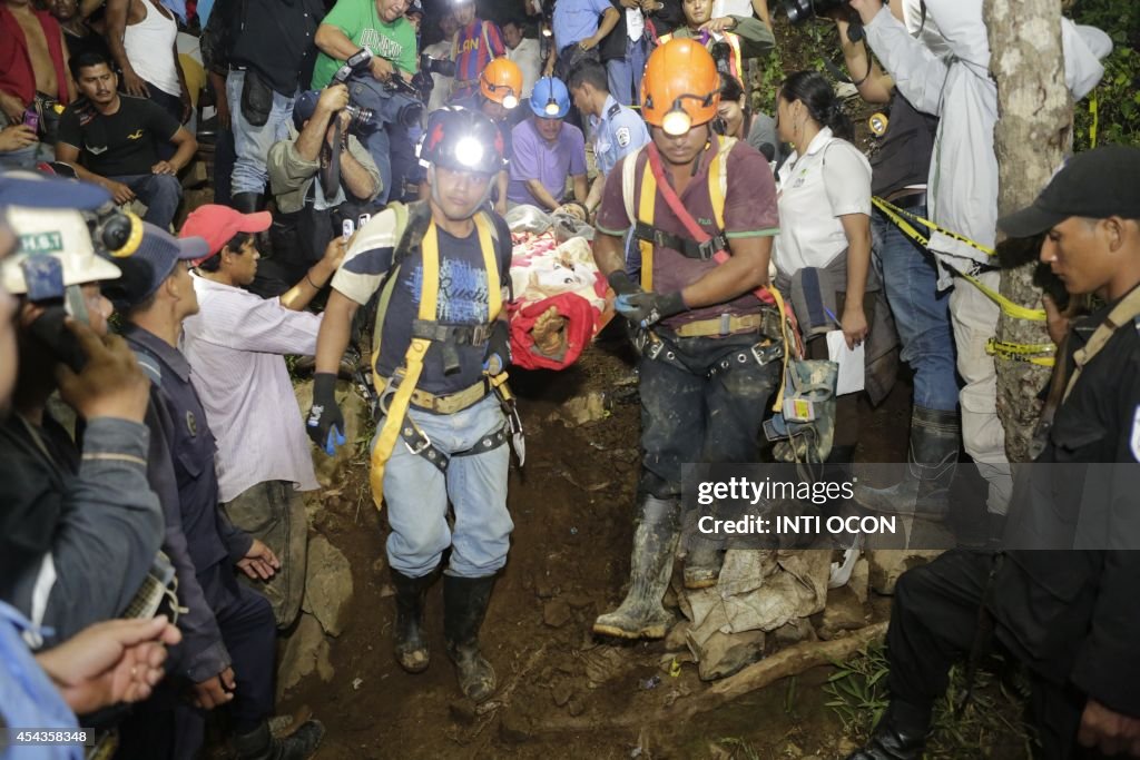
M783 365L773 361L762 367L749 361L734 363L711 378L705 375L722 359L748 351L758 340L757 333L750 333L670 341L677 357L693 371L659 359L641 359L645 492L659 499L679 496L685 464L757 460L760 424Z

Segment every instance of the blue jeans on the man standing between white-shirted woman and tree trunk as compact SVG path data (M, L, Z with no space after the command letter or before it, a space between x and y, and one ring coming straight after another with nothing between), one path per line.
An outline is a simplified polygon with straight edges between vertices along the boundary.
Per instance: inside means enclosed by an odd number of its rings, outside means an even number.
M909 211L926 216L926 206ZM938 292L930 254L903 235L882 212L871 215L874 265L903 343L902 359L914 370L914 406L939 411L958 408L950 291Z

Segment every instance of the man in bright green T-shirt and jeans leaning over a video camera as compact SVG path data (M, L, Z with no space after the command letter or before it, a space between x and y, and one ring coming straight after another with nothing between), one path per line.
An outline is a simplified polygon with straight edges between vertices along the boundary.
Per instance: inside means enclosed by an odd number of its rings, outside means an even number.
M388 203L394 186L392 153L413 150L407 124L401 123L410 121L406 108L417 103L407 87L417 67L415 28L404 17L407 7L408 0L339 0L316 35L320 54L312 89L344 80L342 66L348 65L353 105L378 117L374 129L361 134L361 142L380 169L382 187L376 199L381 204Z

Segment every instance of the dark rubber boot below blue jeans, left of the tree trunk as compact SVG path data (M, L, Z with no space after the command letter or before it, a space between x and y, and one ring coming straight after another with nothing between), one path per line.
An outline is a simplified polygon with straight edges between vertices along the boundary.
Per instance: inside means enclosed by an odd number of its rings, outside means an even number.
M950 512L950 485L958 469L961 426L956 411L914 407L906 473L890 488L855 487L855 501L874 512L943 520Z

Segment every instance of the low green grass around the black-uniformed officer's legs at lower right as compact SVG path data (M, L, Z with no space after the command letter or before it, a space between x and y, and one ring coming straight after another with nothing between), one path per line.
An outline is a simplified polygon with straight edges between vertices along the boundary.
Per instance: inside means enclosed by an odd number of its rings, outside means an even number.
M823 690L849 736L866 739L887 709L887 675L890 667L882 646L871 647L844 663ZM954 705L966 689L960 668L950 673L946 696L935 704L934 733L928 742L928 760L959 758L1028 758L1029 730L1021 722L1025 688L1009 688L994 675L978 670L974 692L960 716Z

